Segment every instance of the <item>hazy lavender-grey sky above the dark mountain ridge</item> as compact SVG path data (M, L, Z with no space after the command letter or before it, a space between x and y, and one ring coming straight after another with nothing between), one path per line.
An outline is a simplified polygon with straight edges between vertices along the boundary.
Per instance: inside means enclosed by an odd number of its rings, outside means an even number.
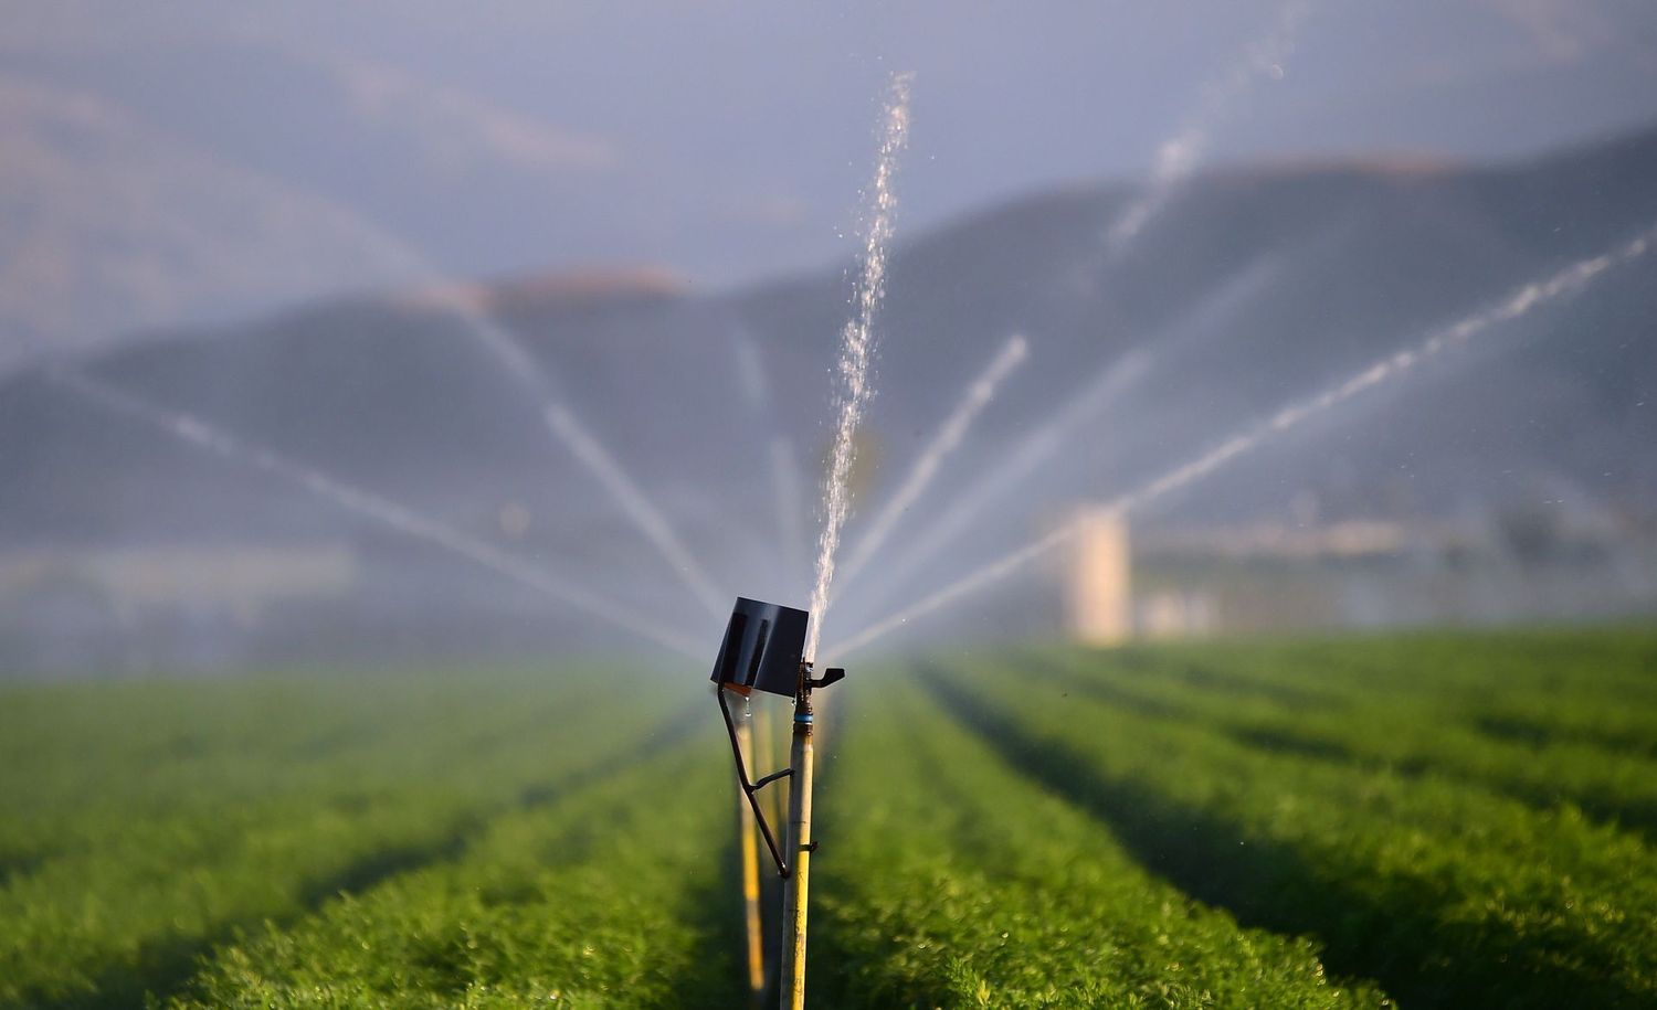
M1216 89L1205 164L1657 121L1647 0L1311 0L1271 73L1246 68L1286 5L1258 0L3 7L0 318L36 341L428 270L822 267L853 248L895 70L906 235L1142 176Z

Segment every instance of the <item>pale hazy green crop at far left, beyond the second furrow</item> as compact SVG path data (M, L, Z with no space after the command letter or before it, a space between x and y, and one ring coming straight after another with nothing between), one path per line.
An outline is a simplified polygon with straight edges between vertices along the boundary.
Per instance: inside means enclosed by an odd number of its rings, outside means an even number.
M512 694L522 681L476 684L404 676L8 689L0 863L71 856L177 816L396 790L411 765L482 753L529 729L502 719L522 710ZM542 699L530 714L555 710Z

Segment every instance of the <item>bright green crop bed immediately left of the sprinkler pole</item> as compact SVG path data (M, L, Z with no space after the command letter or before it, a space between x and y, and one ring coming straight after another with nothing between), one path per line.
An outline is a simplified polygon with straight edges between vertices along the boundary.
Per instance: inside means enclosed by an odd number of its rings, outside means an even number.
M737 1005L731 790L698 735L220 949L169 1005Z

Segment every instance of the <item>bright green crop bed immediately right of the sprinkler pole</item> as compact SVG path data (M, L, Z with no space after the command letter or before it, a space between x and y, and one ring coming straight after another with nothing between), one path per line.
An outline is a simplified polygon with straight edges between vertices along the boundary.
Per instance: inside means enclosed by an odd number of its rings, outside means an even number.
M848 715L824 780L822 1005L1382 1003L1326 977L1311 942L1243 929L1147 874L905 679Z

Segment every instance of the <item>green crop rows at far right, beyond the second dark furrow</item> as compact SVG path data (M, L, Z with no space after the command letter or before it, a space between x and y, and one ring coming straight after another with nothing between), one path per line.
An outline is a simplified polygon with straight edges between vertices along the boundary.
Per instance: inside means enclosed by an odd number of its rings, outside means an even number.
M1089 697L1208 725L1244 743L1465 780L1543 810L1576 805L1594 820L1652 834L1657 752L1609 742L1637 738L1650 717L1649 705L1629 704L1647 690L1627 677L1650 652L1637 636L1612 641L1624 649L1591 639L1561 656L1548 639L1528 651L1506 637L1461 637L1453 651L1428 639L1407 659L1389 657L1397 641L1384 641L1364 662L1347 647L1324 659L1312 652L1278 661L1246 679L1238 674L1248 664L1216 662L1213 652L1190 647L1130 651L1105 662L1042 651L1021 662L1036 676L1070 674ZM1523 733L1511 729L1521 719ZM1657 724L1650 733L1657 745Z

